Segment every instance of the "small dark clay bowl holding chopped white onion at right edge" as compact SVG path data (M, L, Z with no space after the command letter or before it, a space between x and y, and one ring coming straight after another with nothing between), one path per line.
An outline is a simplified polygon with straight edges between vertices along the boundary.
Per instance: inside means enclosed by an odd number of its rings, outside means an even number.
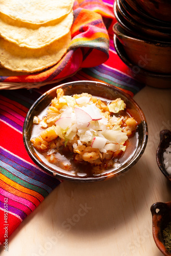
M171 141L171 132L169 130L162 130L160 132L160 143L159 146L157 148L157 152L156 152L156 161L157 164L162 172L162 174L164 174L164 176L171 181L171 175L169 175L165 169L164 166L164 158L163 158L163 153L165 152L166 148L169 146L169 143Z

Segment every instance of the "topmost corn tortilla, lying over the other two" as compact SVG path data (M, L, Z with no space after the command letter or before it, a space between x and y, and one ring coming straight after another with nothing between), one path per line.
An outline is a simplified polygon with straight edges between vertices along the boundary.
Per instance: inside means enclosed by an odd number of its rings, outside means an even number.
M1 0L0 12L33 24L44 24L69 14L74 0Z

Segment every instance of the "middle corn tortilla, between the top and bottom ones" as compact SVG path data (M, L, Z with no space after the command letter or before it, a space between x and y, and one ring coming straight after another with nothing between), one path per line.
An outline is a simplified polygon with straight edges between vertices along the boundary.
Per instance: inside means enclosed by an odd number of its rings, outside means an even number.
M23 23L0 13L0 35L20 47L37 49L68 34L72 23L73 11L45 25Z

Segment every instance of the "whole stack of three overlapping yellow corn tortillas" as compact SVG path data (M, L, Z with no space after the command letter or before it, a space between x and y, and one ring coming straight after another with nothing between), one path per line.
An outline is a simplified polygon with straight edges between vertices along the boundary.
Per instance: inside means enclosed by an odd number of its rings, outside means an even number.
M71 41L74 0L0 1L0 75L30 74L57 63Z

